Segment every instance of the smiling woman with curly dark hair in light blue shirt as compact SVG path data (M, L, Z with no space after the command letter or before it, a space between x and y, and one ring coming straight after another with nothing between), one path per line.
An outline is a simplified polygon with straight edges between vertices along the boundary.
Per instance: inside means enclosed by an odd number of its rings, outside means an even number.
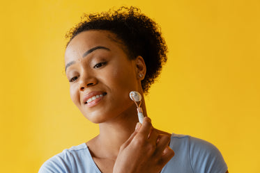
M129 93L144 97L167 60L157 24L132 7L86 18L67 35L66 76L72 101L100 134L50 158L39 172L227 172L210 143L154 129L144 99L138 122Z

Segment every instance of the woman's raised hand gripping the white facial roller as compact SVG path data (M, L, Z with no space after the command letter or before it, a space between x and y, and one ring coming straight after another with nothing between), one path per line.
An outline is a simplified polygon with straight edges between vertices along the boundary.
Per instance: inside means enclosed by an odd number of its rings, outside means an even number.
M174 156L169 141L169 135L160 134L153 128L151 119L145 117L143 124L137 123L135 132L121 146L113 172L160 172Z

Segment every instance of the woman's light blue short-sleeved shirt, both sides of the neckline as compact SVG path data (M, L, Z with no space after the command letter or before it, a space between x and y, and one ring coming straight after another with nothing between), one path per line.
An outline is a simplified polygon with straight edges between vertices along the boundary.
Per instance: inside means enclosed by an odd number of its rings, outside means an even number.
M227 164L220 151L211 143L190 135L171 135L175 155L162 173L225 173ZM85 143L64 149L49 158L38 173L101 173Z

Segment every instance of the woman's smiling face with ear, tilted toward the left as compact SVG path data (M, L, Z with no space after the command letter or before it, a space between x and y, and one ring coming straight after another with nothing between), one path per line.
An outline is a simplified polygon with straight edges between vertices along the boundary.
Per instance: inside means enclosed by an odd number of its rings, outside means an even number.
M70 97L94 123L113 120L135 108L129 92L142 92L142 57L129 60L123 44L109 31L84 31L73 38L65 53Z

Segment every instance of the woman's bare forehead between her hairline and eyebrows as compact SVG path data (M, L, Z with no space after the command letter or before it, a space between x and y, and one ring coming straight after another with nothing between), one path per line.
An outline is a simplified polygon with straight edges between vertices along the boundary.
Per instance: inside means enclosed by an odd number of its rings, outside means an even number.
M93 47L107 47L109 49L123 49L125 46L114 33L109 31L83 31L73 38L65 52L65 62L75 60L75 58L82 58L84 52ZM125 52L126 53L126 52Z

